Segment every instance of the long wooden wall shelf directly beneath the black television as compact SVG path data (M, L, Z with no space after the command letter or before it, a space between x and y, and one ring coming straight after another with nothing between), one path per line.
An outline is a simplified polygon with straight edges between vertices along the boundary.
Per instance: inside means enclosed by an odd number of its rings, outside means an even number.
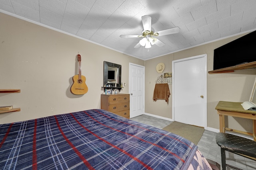
M236 66L230 66L226 68L220 68L218 70L208 71L208 73L209 74L227 73L227 72L234 72L234 70L245 70L245 69L252 69L252 68L256 68L256 61L246 63L246 64L240 64Z

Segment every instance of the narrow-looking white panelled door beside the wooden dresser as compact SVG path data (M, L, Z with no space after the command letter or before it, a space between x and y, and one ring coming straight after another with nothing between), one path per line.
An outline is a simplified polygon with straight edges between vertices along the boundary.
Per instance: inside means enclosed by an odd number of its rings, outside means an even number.
M129 63L130 118L144 113L145 67Z

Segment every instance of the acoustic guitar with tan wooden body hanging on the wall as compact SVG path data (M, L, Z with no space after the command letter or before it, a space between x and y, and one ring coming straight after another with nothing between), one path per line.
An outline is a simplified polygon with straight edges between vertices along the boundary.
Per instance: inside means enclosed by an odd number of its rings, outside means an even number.
M86 94L88 92L88 87L85 84L85 76L81 75L81 55L77 55L78 60L78 75L73 76L73 84L70 88L70 91L73 94Z

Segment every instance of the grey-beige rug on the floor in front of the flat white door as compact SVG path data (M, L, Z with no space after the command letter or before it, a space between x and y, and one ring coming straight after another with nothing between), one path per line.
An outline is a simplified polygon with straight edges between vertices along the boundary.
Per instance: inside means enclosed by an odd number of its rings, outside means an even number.
M204 133L203 127L188 125L177 121L174 121L170 125L164 127L163 130L175 133L176 135L180 135L181 137L190 140L196 145Z

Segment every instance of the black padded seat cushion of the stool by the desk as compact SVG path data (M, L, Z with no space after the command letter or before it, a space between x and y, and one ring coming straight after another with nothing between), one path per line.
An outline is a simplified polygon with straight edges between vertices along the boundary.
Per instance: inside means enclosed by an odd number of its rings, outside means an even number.
M223 149L256 158L256 141L228 133L217 133L216 143Z

